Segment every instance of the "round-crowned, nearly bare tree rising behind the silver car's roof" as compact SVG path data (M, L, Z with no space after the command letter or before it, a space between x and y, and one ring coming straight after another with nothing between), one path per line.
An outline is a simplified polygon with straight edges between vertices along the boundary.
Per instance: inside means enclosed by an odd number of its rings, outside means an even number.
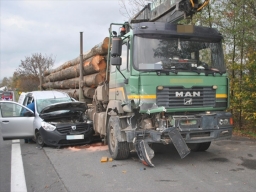
M49 70L55 62L55 58L52 55L43 56L41 53L34 53L31 57L25 57L25 60L21 60L21 64L17 69L17 73L27 77L34 76L39 80L39 88L42 90L43 73Z

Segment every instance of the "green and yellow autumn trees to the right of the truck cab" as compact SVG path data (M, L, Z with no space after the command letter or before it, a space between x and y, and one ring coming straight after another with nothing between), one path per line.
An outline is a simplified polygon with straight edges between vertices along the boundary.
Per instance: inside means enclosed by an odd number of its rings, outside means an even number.
M192 20L222 33L230 77L230 111L238 129L256 132L256 1L212 0Z

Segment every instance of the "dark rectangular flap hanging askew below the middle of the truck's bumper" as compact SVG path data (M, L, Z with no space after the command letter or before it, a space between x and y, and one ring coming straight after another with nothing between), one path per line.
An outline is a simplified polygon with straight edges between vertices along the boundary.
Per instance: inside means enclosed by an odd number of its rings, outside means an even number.
M168 133L172 143L182 159L190 153L190 149L188 148L185 140L176 128L168 128L164 132Z

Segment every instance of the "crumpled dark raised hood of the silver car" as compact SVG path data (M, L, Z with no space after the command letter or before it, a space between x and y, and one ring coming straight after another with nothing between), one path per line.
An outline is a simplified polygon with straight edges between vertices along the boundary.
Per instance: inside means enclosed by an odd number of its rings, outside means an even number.
M66 116L67 114L83 113L86 109L87 106L83 102L56 103L43 108L39 116L42 119L49 119L53 116L61 117L62 114Z

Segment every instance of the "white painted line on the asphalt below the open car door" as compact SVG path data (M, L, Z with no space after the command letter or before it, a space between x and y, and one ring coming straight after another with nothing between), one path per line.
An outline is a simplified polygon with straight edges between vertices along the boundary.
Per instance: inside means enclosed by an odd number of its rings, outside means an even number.
M11 192L17 191L27 192L27 185L20 150L20 142L13 140L11 159Z

